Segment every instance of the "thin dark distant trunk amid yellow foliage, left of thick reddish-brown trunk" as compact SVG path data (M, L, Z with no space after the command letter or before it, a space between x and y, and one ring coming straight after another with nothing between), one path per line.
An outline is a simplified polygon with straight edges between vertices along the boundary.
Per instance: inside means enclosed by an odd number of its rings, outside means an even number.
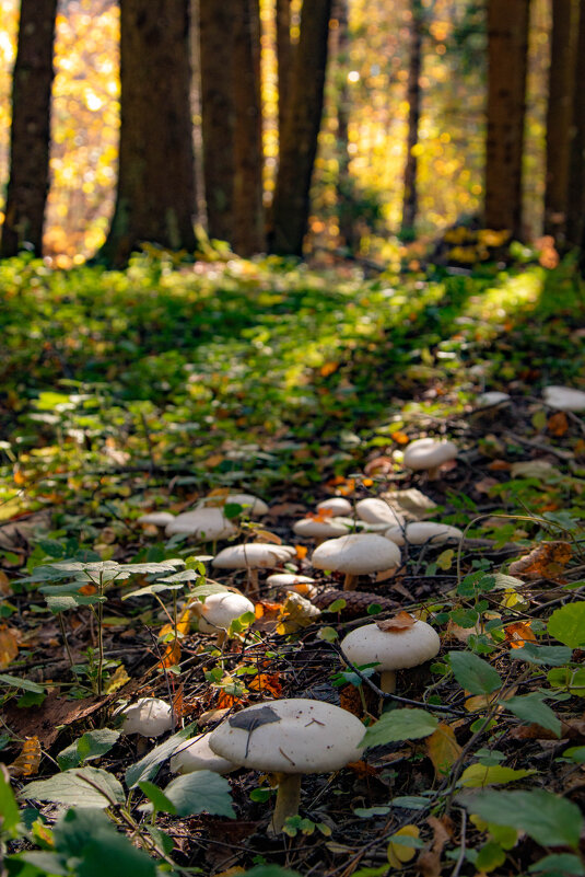
M400 235L405 240L414 236L414 221L418 211L416 147L419 142L419 120L421 115L421 68L422 68L422 26L423 10L420 0L412 0L410 20L410 58L408 66L408 137L407 161L405 165L405 195L402 201L402 222Z

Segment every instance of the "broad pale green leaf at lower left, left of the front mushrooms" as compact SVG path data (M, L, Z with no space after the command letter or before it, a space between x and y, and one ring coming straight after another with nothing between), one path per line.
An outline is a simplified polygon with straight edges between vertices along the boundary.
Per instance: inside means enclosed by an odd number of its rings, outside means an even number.
M21 798L72 804L78 807L109 807L124 803L124 789L113 774L98 768L79 768L28 783Z

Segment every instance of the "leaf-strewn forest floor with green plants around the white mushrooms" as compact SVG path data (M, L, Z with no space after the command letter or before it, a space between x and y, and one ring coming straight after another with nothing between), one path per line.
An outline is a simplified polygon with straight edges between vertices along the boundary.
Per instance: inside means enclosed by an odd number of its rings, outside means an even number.
M364 280L270 258L15 259L0 289L8 874L585 874L585 420L542 399L585 390L571 264ZM482 406L487 390L510 399ZM458 448L434 478L402 464L426 436ZM284 569L316 579L323 611L261 572L254 618L218 648L186 598L245 573L138 518L242 491L269 511L229 503L237 541L293 545ZM370 596L332 592L342 578L292 526L334 496L401 501L465 539L403 547L360 581ZM398 674L378 720L375 668L344 666L339 641L401 610L441 651ZM120 735L116 711L147 695L173 704L169 743ZM279 697L341 704L377 736L306 776L276 838L268 774L206 774L179 800L180 740Z

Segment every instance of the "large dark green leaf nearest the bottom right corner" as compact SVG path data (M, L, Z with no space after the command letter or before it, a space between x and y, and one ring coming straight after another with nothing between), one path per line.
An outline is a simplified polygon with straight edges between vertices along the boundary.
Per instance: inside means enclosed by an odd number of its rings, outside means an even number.
M525 831L542 846L578 846L583 816L576 804L545 789L479 792L461 804L487 822Z

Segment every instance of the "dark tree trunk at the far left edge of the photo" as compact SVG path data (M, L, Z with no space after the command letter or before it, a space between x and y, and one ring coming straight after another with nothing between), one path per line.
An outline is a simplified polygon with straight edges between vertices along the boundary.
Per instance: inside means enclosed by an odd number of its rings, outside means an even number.
M14 256L23 247L43 253L56 12L57 0L21 0L1 256Z

